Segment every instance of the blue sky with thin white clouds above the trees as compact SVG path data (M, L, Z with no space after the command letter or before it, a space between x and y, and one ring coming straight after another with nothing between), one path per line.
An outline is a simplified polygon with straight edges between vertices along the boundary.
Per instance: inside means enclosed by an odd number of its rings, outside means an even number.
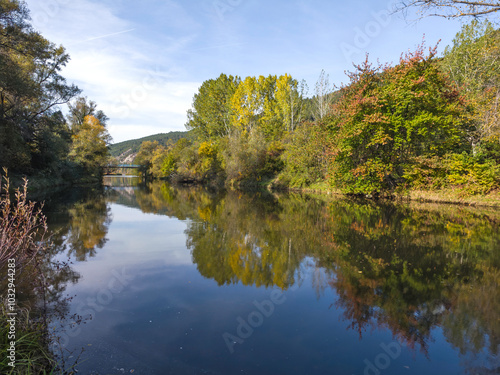
M64 76L97 102L114 142L185 130L203 81L284 73L330 82L364 60L399 60L425 34L439 50L459 21L390 15L382 0L26 0L32 23L66 47Z

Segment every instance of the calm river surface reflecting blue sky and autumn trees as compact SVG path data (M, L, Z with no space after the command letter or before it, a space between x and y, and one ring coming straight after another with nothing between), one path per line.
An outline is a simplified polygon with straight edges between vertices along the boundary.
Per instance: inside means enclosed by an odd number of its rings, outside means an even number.
M47 203L79 374L500 373L500 213L132 182Z

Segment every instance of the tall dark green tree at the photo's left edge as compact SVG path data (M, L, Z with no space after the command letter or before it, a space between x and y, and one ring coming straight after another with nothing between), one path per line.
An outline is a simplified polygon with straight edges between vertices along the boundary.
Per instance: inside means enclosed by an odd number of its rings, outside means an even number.
M23 2L0 0L0 164L26 172L36 134L80 90L60 75L69 56L35 32Z

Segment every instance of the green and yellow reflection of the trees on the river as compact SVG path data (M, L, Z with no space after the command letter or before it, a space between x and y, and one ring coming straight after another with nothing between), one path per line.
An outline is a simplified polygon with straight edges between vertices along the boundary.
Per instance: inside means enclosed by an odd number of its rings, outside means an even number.
M317 298L331 298L332 317L340 312L360 339L390 332L430 358L438 330L464 358L463 372L500 369L495 211L154 183L72 204L59 249L77 261L99 252L110 203L185 222L193 264L219 286L287 291L309 284Z

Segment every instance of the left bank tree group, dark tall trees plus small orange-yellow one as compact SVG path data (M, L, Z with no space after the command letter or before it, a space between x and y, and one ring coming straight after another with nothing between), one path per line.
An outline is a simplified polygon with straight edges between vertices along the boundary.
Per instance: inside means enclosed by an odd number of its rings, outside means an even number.
M24 2L0 0L0 167L11 174L76 181L106 164L108 118L60 74L68 61L32 28Z

